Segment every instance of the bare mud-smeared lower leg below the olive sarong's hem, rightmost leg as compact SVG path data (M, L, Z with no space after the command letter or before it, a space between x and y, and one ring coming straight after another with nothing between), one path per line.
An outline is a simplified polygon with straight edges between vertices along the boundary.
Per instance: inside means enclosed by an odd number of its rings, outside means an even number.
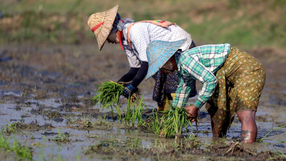
M241 122L241 142L253 143L257 136L257 126L255 122L256 111L238 112L237 116Z

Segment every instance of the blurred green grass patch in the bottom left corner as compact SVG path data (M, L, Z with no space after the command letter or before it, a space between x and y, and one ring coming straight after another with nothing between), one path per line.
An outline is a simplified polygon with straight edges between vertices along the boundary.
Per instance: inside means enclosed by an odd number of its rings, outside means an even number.
M22 146L16 139L11 144L10 139L0 134L0 148L4 149L6 153L14 152L16 156L19 156L23 160L32 160L32 153L29 147Z

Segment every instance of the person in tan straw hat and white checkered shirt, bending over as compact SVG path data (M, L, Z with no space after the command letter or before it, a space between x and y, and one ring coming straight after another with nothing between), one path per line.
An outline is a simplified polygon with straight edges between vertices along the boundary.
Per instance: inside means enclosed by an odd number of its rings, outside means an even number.
M151 41L176 41L187 38L181 46L182 51L188 50L195 45L190 34L175 23L161 20L134 23L133 19L120 19L117 11L118 5L108 11L94 13L89 17L88 25L96 35L100 50L107 40L109 43L119 43L121 49L126 52L130 70L118 82L131 81L131 83L123 84L125 87L123 95L128 97L147 74L146 47ZM156 81L153 100L158 102L158 111L167 110L169 100L175 98L174 93L178 87L177 72L166 75L158 71L153 78ZM190 97L194 95L196 95L195 82L191 85Z

